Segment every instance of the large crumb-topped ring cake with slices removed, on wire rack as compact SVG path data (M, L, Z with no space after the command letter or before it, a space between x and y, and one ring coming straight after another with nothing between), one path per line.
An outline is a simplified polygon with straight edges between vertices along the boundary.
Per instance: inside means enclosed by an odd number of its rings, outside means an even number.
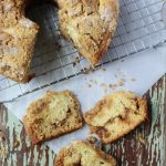
M29 0L28 0L29 1ZM0 1L0 74L29 81L38 24L24 17L27 0ZM97 64L115 33L117 0L54 0L60 7L60 29L81 55Z

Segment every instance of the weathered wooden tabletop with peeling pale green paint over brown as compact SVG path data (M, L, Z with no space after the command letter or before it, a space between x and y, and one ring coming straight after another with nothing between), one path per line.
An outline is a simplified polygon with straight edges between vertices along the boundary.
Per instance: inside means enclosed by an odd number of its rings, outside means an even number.
M165 166L166 163L166 74L146 94L149 122L112 145L103 146L123 166ZM0 106L0 166L52 166L55 154L45 145L32 146L21 122ZM4 147L7 155L2 156Z

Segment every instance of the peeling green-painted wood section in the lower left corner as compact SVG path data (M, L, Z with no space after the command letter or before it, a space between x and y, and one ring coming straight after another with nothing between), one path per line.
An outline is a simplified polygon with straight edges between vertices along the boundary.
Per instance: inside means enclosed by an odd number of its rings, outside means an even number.
M55 154L44 144L32 146L22 123L3 105L0 105L0 129L4 133L1 148L7 155L0 155L0 166L52 166ZM1 154L1 153L0 153Z

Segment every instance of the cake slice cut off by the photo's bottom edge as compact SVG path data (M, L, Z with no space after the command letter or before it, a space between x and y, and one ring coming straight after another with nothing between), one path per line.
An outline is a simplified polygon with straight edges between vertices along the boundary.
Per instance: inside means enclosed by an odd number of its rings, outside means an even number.
M85 142L64 147L55 158L55 166L115 166L116 160Z

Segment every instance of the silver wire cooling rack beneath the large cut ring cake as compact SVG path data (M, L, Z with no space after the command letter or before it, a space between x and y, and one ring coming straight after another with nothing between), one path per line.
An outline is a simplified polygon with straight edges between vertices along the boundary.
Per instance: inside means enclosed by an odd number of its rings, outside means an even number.
M117 32L101 65L155 48L166 41L160 20L163 0L120 0ZM30 18L40 24L31 71L35 79L23 85L0 76L0 100L9 101L42 87L76 76L89 63L64 40L59 31L58 9L52 4L38 6ZM80 63L73 65L75 59Z

